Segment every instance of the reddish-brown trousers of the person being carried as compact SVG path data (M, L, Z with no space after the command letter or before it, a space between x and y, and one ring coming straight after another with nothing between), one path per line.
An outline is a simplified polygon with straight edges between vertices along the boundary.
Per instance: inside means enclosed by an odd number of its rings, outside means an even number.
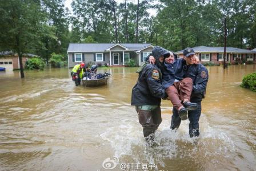
M188 99L190 101L190 96L193 88L193 80L191 78L184 78L179 82L174 82L172 86L165 89L173 107L179 109L182 107L182 101Z

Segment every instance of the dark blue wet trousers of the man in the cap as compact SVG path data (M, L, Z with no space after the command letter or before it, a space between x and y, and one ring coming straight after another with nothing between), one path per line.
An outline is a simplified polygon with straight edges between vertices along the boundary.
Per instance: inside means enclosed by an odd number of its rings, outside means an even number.
M191 102L197 103L198 108L189 112L189 135L190 137L199 136L199 118L201 116L201 101L191 99ZM171 129L178 129L181 124L181 118L177 109L173 108L173 116L171 116Z

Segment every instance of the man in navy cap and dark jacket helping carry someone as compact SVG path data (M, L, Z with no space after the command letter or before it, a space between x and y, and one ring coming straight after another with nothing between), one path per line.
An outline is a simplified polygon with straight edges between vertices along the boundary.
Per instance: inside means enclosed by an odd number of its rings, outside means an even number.
M183 51L186 62L182 63L180 68L175 68L178 72L177 78L191 78L193 80L193 90L191 93L191 102L197 103L198 108L189 111L189 135L190 137L199 136L199 117L201 115L201 101L205 97L206 85L208 82L208 71L201 63L193 64L192 58L195 52L192 48L185 48ZM171 117L171 129L179 128L181 119L177 109L173 108Z

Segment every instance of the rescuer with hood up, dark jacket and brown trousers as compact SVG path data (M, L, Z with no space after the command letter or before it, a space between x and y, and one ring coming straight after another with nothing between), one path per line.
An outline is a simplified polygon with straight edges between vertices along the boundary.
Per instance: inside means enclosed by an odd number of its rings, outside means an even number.
M164 48L155 46L152 55L157 63L162 63L170 54ZM160 104L161 98L165 97L162 73L158 65L150 64L149 61L146 61L137 73L139 77L131 93L131 105L135 105L146 142L152 145L154 133L162 122Z

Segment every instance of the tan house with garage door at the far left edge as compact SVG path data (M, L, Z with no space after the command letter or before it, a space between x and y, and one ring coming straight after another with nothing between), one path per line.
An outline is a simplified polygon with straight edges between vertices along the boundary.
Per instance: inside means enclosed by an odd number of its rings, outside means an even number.
M34 57L37 55L33 54L24 54L22 57L23 68L25 68L25 63L28 58ZM13 71L19 69L19 56L14 54L12 51L3 51L0 52L0 67L5 67L6 71Z

